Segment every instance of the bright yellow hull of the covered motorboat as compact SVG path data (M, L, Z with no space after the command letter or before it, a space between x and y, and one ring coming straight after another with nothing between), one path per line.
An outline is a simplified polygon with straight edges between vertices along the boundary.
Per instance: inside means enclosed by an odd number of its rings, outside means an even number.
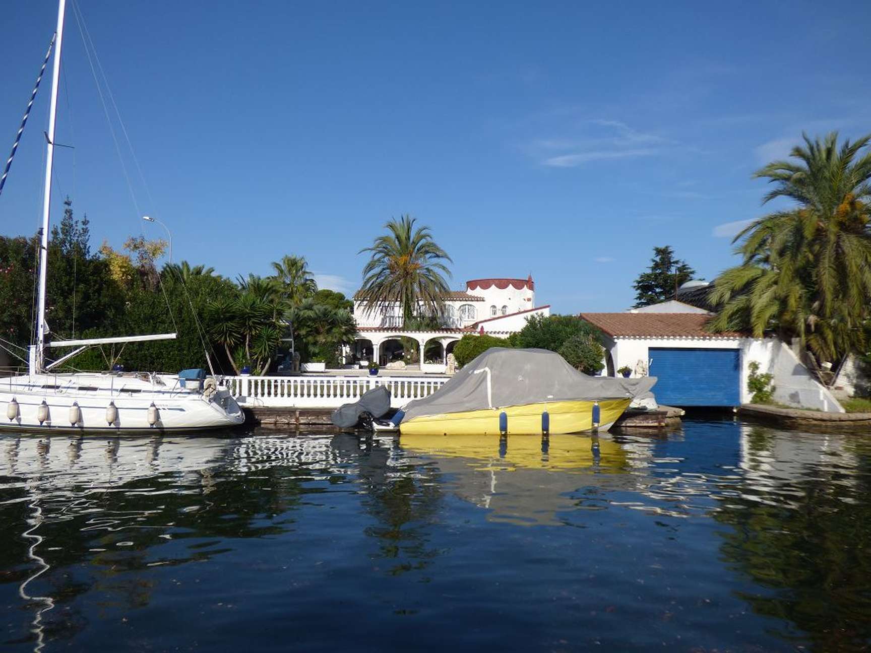
M600 427L611 426L623 414L630 401L599 401ZM408 435L500 434L499 414L504 413L508 417L508 434L540 434L544 411L547 411L550 418L550 434L580 433L593 427L592 401L549 401L463 413L422 415L402 420L399 432Z

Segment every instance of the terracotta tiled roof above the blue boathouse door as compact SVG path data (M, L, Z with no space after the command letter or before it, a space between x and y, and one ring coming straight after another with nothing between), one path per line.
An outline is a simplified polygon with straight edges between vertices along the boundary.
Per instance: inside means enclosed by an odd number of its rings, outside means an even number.
M705 313L581 313L582 320L600 328L612 338L741 338L746 333L711 333L712 319Z

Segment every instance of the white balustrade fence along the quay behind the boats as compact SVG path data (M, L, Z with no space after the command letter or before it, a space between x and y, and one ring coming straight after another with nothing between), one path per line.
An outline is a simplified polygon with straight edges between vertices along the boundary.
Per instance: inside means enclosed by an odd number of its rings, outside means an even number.
M374 387L387 386L390 405L398 408L433 394L446 381L408 376L225 376L219 387L229 390L240 406L336 408Z

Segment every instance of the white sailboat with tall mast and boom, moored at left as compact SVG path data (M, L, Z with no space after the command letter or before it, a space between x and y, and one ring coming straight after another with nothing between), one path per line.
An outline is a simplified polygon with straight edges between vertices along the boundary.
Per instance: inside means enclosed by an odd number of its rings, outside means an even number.
M45 321L45 286L65 8L66 0L59 0L49 129L45 134L48 151L39 252L36 343L29 348L28 374L0 380L0 411L5 408L5 414L0 413L0 428L32 433L100 431L128 434L189 431L241 424L245 421L245 415L239 404L226 390L219 389L214 376L207 376L204 370L183 370L179 374L55 371L65 361L89 347L176 337L176 333L86 340L53 340L50 337ZM57 360L50 360L45 355L48 348L69 347L73 347L72 351Z

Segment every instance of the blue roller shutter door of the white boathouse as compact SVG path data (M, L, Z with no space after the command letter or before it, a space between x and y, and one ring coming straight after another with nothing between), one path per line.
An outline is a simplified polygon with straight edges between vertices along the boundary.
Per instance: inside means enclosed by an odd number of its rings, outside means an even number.
M741 357L738 349L651 347L650 374L659 403L666 406L738 406Z

